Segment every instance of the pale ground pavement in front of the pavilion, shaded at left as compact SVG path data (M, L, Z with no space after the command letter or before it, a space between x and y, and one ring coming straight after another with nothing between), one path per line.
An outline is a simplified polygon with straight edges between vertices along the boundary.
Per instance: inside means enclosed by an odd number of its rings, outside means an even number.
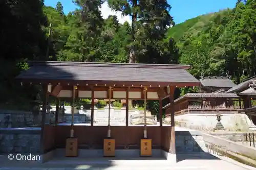
M220 156L208 153L178 154L177 163L154 158L134 158L133 160L115 160L115 158L81 159L81 158L55 158L46 163L32 161L4 161L0 157L0 170L172 170L172 169L198 169L198 170L256 170L256 168Z

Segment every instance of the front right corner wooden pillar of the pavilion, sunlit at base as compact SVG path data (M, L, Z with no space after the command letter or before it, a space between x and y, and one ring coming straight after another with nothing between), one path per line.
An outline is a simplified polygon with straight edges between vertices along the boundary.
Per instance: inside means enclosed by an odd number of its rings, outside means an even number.
M174 118L174 90L175 87L170 87L170 122L171 122L171 131L170 131L170 153L176 154L176 148L175 148L175 118Z

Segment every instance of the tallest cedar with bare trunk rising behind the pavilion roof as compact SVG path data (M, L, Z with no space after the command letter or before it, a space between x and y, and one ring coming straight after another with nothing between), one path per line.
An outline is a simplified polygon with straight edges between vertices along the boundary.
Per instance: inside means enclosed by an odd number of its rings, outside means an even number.
M162 29L169 26L172 21L168 11L170 5L165 0L109 0L109 6L115 11L121 11L122 15L132 16L132 44L129 53L129 63L136 62L135 34L136 22L154 23Z

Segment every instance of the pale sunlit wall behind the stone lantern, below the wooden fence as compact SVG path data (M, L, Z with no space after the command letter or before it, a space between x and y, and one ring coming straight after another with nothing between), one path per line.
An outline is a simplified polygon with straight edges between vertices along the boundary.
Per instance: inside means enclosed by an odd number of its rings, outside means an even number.
M248 131L255 127L246 114L221 114L221 123L226 131ZM175 116L175 121L183 127L212 131L217 124L217 116L216 113L189 113Z

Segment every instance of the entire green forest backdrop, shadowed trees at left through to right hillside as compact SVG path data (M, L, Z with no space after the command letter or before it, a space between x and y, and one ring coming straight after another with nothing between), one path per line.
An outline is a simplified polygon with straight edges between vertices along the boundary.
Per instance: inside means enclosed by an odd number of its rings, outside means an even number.
M14 81L27 68L26 60L181 63L191 65L196 77L227 72L236 83L255 74L256 0L238 0L234 9L178 25L164 0L109 0L113 10L132 17L132 25L119 23L116 16L103 19L100 0L74 3L78 9L67 15L61 3L55 8L43 0L0 3L2 105L25 106L33 100L38 88Z

